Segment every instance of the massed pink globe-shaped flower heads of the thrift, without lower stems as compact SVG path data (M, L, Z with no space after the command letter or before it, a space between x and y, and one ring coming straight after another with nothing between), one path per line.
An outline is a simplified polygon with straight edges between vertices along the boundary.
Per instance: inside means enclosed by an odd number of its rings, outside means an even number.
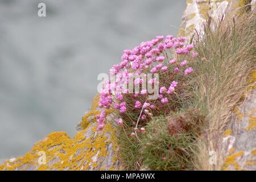
M166 38L164 36L156 36L155 39L142 42L131 50L126 49L123 51L121 63L113 65L109 71L110 76L116 76L117 80L114 82L108 80L102 86L99 106L105 109L112 107L120 115L125 114L127 103L124 101L124 97L126 93L129 93L129 90L123 90L123 84L129 84L129 79L134 74L145 73L146 75L146 73L164 72L166 76L168 76L168 73L189 75L193 72L193 69L191 67L185 68L188 65L187 59L185 60L187 56L193 59L198 56L198 53L193 51L191 44L185 44L185 38L174 38L172 35L167 35ZM156 84L156 81L155 78L151 78L148 83L152 85ZM136 78L134 85L141 85L142 82L142 78ZM178 82L174 80L171 83L165 82L164 85L160 85L158 102L160 104L170 102L170 95L175 92L177 85ZM113 90L114 93L112 92ZM152 110L155 109L155 102L149 103L146 102L146 99L136 99L138 96L146 97L147 94L147 89L133 93L134 101L132 101L132 107L137 110L141 110L143 107L144 110L147 110L146 112L143 111L141 119L147 119L147 117L152 116ZM105 111L102 111L97 116L98 130L104 127L105 117ZM122 125L122 119L117 119L117 123Z

